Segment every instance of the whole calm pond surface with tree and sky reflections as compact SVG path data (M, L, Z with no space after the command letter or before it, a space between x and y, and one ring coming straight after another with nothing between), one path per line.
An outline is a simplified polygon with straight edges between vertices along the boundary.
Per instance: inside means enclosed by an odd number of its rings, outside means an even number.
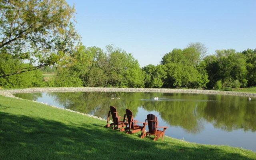
M201 144L222 144L256 151L256 98L227 95L142 92L50 92L16 96L106 119L109 106L135 119L158 117L166 135ZM158 100L154 100L158 97ZM115 99L111 99L115 98ZM117 99L120 98L120 99Z

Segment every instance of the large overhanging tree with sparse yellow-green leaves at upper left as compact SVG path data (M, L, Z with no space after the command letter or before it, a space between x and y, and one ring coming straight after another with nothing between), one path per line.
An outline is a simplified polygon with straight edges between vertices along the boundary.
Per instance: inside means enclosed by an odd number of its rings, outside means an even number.
M0 56L37 64L0 77L50 66L69 55L79 38L74 12L65 0L0 0Z

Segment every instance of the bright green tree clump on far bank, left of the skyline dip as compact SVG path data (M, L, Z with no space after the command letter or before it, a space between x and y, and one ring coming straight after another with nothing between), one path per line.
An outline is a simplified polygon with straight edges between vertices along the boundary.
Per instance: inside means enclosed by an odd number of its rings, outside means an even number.
M73 77L89 87L136 87L144 86L144 74L132 54L128 54L113 45L106 52L97 47L79 45L72 54L69 63L59 68L72 72ZM57 76L62 72L58 72ZM68 75L71 76L71 75ZM61 80L56 78L55 80ZM60 84L63 82L60 82ZM55 82L58 84L58 82ZM78 83L80 86L80 82ZM77 84L77 85L78 85Z

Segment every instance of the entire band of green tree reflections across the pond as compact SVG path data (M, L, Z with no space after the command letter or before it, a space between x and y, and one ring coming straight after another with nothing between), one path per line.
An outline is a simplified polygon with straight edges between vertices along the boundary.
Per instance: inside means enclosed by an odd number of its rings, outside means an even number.
M16 95L28 100L42 97L42 93ZM256 131L256 107L241 96L143 92L50 92L48 95L67 109L102 118L106 118L109 106L115 106L120 116L124 116L126 108L136 116L138 107L142 106L149 112L159 112L170 126L180 126L192 134L204 128L204 120L222 130ZM155 101L154 97L159 100Z

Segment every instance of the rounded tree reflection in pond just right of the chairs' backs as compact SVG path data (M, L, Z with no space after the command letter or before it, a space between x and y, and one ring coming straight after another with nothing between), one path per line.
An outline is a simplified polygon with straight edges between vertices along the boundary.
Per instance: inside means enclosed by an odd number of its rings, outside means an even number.
M170 126L181 126L187 132L196 134L203 129L202 115L198 110L206 106L206 95L201 94L163 94L160 100L154 103L146 102L145 110L159 112L161 118Z

